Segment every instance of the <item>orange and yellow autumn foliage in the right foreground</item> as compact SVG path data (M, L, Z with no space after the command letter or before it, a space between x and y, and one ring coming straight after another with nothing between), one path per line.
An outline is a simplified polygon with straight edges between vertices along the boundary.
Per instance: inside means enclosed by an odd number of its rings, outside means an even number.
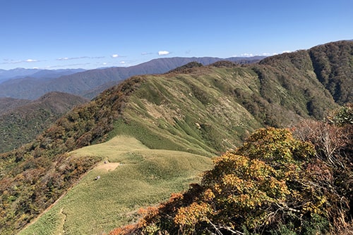
M258 129L200 184L115 234L347 234L352 182L337 182L317 150L287 129Z

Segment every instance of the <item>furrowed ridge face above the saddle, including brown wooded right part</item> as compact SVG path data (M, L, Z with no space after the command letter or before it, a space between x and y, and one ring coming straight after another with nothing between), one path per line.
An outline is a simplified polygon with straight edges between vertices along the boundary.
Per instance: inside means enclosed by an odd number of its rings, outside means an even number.
M129 134L150 148L220 153L264 125L288 127L337 107L312 70L290 69L285 75L269 65L208 66L146 75L112 136Z

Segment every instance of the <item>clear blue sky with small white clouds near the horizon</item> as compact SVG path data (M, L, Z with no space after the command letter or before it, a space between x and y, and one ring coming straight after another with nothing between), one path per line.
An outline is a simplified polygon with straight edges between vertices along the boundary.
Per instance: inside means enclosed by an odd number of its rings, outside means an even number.
M0 0L0 69L273 55L353 39L352 0Z

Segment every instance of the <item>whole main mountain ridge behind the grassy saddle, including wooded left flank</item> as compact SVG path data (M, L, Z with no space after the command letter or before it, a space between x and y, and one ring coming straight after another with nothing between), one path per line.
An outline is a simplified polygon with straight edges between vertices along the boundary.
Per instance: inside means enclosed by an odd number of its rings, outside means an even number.
M352 102L352 61L353 42L344 41L256 64L193 63L131 77L0 155L0 233L19 231L102 160L69 151L124 135L148 148L218 155L260 127L321 120Z

